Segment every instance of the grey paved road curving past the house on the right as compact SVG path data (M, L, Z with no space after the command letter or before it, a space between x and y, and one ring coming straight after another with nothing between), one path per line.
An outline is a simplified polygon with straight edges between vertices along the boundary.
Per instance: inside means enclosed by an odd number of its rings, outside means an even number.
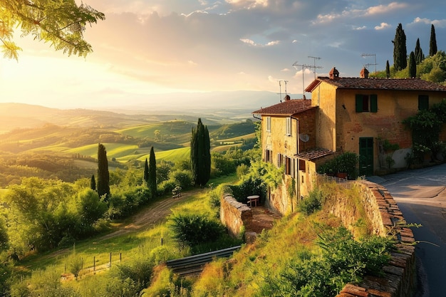
M392 194L412 228L419 264L420 297L446 296L446 164L370 177Z

